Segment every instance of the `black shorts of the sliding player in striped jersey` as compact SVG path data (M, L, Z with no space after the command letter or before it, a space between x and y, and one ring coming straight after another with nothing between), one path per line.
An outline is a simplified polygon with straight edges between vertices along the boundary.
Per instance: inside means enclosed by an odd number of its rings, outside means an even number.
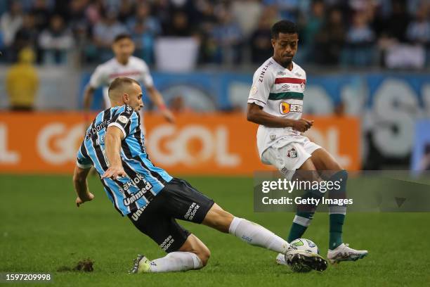
M190 232L175 219L202 223L214 205L183 179L172 179L146 207L128 215L134 226L157 242L167 253L177 251Z

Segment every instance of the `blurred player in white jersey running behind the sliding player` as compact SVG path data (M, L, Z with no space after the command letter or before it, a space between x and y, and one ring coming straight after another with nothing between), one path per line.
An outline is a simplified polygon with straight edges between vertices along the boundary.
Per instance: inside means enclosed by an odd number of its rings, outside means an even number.
M168 122L174 122L174 115L166 107L162 95L154 87L154 82L152 81L148 65L146 65L144 60L132 56L134 49L135 46L129 34L119 34L115 37L114 42L112 43L112 51L114 52L115 57L101 65L98 65L96 70L93 72L93 75L91 75L90 82L85 89L84 110L86 112L89 111L94 91L99 87L103 87L105 108L110 108L109 96L107 96L107 87L109 87L109 84L117 77L129 77L143 83L150 100L155 103L155 106L157 106ZM86 117L88 117L87 113ZM143 120L142 113L141 119ZM88 120L89 119L86 118L87 122Z

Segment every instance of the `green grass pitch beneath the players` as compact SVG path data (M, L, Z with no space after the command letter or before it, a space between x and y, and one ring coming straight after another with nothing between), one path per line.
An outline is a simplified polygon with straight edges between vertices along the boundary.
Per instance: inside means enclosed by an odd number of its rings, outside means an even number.
M254 213L252 178L185 177L224 209L287 236L292 213ZM329 266L326 272L294 274L275 264L275 253L228 234L184 222L211 250L207 267L170 274L127 274L136 254L164 256L149 238L112 207L96 177L96 198L76 208L66 176L1 175L0 272L51 273L48 286L429 286L428 213L351 213L344 240L370 255ZM327 255L328 215L315 215L306 232ZM84 258L94 271L58 272ZM3 285L3 284L1 284ZM7 284L13 286L14 284ZM25 283L22 286L44 286ZM6 284L5 284L6 286Z

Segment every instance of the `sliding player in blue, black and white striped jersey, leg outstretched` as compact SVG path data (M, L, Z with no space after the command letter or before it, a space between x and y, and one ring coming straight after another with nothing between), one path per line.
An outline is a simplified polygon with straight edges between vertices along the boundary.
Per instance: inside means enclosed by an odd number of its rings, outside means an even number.
M168 254L148 260L138 255L131 273L174 272L200 269L207 264L209 249L176 219L205 224L233 234L251 245L287 257L293 267L323 271L320 255L287 250L289 244L271 231L224 211L187 181L171 177L152 165L145 151L138 110L142 91L134 79L119 77L109 87L112 108L99 113L86 131L74 169L76 204L93 200L86 177L93 165L114 208Z

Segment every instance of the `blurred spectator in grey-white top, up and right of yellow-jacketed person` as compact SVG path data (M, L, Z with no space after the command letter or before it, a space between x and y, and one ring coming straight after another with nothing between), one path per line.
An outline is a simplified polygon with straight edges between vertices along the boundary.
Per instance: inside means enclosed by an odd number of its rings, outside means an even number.
M67 51L72 49L72 45L72 33L65 27L63 18L54 15L48 29L39 36L44 63L66 63Z

